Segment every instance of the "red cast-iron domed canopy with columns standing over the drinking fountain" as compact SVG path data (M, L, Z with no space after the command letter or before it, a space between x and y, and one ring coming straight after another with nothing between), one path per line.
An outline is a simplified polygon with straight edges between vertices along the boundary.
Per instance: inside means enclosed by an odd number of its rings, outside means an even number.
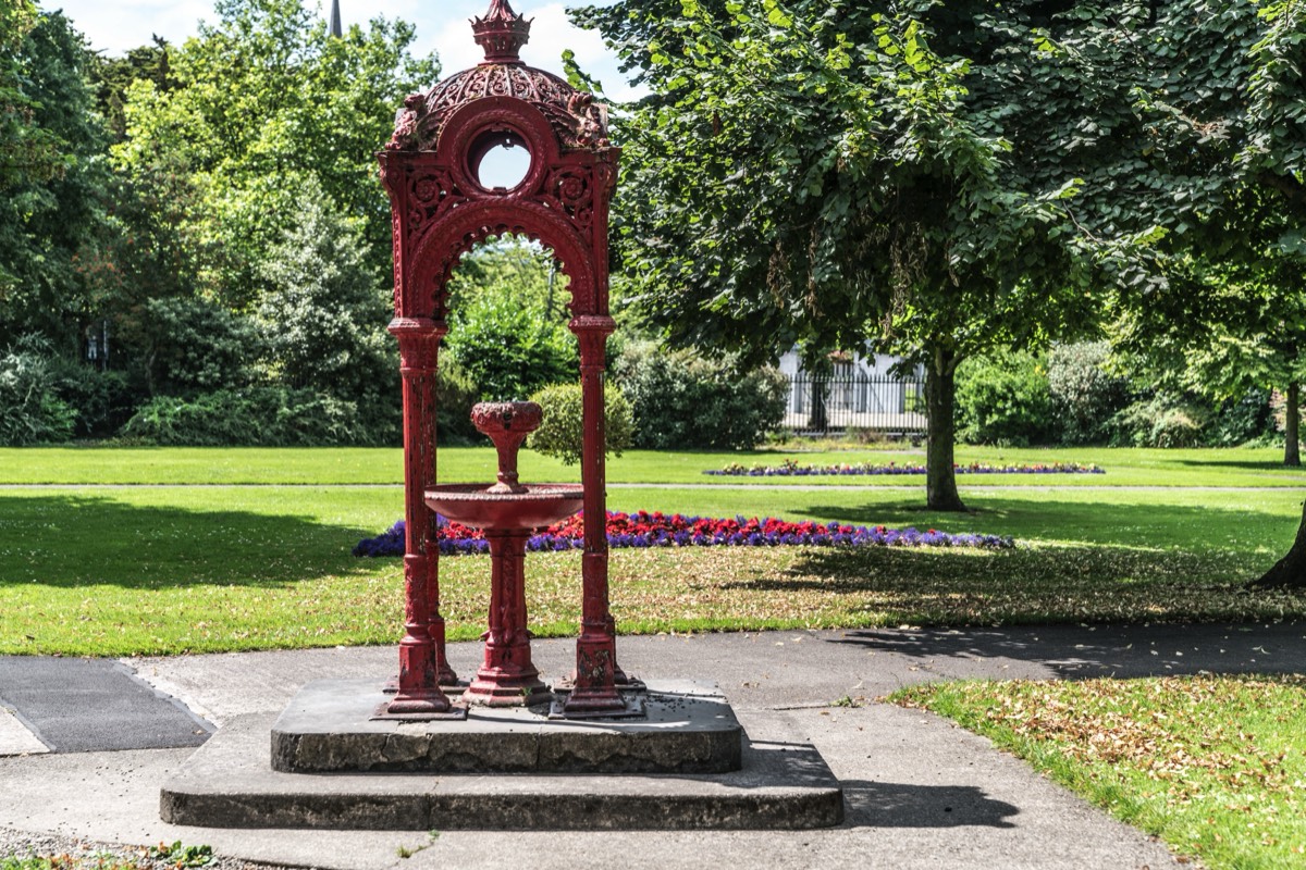
M582 608L568 715L626 710L616 686L615 630L607 604L603 367L614 323L607 309L607 209L619 149L607 138L603 107L562 78L526 67L521 46L530 22L508 0L491 0L471 23L486 51L477 67L426 94L413 94L377 153L390 200L394 320L404 377L404 639L394 699L384 715L447 715L441 685L457 682L444 655L435 514L424 494L438 481L435 382L440 339L449 331L448 283L474 245L525 235L554 250L571 279L569 329L580 342L584 407ZM511 189L486 187L478 173L492 147L530 153Z

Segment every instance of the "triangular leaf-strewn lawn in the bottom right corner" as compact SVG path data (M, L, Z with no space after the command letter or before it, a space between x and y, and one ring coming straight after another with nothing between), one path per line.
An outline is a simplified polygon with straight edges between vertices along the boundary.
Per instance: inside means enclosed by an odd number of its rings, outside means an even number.
M953 682L957 720L1212 870L1306 866L1306 678Z

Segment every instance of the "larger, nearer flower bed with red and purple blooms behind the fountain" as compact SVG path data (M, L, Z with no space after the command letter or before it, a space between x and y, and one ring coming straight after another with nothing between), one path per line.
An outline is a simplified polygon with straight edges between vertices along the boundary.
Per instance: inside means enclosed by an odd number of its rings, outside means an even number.
M490 543L475 528L451 523L443 517L436 520L440 553L487 553ZM577 514L532 535L526 541L530 550L580 549L582 522ZM845 526L840 523L790 523L774 517L764 519L716 519L710 517L684 517L661 511L636 514L607 514L607 545L624 547L980 547L1010 549L1011 537L999 535L951 535L935 530L885 528L884 526ZM367 537L354 548L354 556L402 556L404 520L389 531Z

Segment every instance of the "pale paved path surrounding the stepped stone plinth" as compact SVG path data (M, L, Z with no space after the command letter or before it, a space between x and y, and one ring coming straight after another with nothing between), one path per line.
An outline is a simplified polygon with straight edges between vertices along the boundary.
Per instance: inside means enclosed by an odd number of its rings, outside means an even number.
M1306 625L1038 626L974 630L857 630L622 638L619 655L648 678L716 680L741 721L789 716L825 757L846 789L848 820L810 832L295 832L184 828L158 820L158 787L191 753L178 749L56 751L0 759L0 828L116 843L182 839L225 854L342 870L439 866L680 867L735 862L747 867L1149 867L1174 866L1164 847L1109 819L1023 762L951 723L874 699L893 689L966 677L1081 678L1174 673L1306 670ZM569 669L569 642L537 642L549 676ZM389 648L135 659L135 676L209 723L278 711L306 681L385 677ZM470 672L479 644L454 644L451 660ZM37 661L37 660L29 660ZM82 668L77 660L42 660ZM14 668L0 660L0 698L29 715L39 698L7 695ZM27 665L30 667L30 665ZM114 672L112 665L97 667ZM71 672L69 670L69 672ZM118 673L118 672L114 672ZM121 676L121 674L119 674ZM47 676L47 680L50 677ZM119 686L110 676L106 686ZM125 682L140 690L133 680ZM55 690L57 677L55 677ZM39 694L39 693L38 693ZM857 708L831 707L844 697ZM172 723L167 698L153 710ZM25 712L25 706L29 712ZM99 703L72 704L95 733ZM165 710L167 707L167 710ZM778 712L777 712L778 711ZM13 717L10 717L13 719ZM187 716L187 721L193 721ZM0 713L0 725L4 715ZM104 724L110 736L115 728ZM4 728L0 727L0 738ZM189 736L193 738L195 736ZM106 737L104 740L108 740ZM158 743L155 743L158 745ZM91 745L82 743L90 749ZM397 849L421 848L410 858Z

